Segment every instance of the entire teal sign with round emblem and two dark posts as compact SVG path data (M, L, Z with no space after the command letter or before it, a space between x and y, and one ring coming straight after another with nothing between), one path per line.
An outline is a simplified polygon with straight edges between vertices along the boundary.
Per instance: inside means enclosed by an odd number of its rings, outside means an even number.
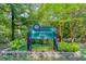
M35 25L30 28L30 34L27 37L27 50L32 51L33 39L53 39L53 50L58 51L58 38L56 28L53 27L40 27Z

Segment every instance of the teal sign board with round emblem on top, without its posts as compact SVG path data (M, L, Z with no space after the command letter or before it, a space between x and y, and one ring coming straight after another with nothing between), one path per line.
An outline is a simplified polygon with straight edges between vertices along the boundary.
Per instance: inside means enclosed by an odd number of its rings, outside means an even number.
M32 39L53 39L56 36L54 27L40 27L35 25L30 28L30 38Z

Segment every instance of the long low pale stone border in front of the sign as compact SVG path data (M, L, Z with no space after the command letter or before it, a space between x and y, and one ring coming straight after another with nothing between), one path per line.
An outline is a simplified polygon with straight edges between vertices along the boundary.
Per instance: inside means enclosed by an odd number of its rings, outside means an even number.
M34 57L35 60L51 60L51 59L67 59L67 60L79 60L82 56L81 51L77 52L54 52L54 51L48 51L48 52L34 52L34 51L10 51L10 48L4 49L0 52L1 55L29 55L30 57Z

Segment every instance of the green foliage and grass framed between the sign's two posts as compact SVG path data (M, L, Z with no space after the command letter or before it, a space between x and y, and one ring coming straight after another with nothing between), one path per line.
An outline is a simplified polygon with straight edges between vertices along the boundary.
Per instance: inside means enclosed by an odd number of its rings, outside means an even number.
M34 40L32 44L33 51L52 51L53 41L50 39Z

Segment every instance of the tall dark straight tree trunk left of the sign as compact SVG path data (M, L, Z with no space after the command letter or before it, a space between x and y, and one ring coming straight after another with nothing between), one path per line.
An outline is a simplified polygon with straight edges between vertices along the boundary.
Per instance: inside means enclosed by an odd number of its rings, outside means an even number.
M11 38L12 40L14 40L14 5L13 4L10 4L10 8L11 8L11 20L12 20L12 25L11 25L11 28L12 28L12 35L11 35Z

